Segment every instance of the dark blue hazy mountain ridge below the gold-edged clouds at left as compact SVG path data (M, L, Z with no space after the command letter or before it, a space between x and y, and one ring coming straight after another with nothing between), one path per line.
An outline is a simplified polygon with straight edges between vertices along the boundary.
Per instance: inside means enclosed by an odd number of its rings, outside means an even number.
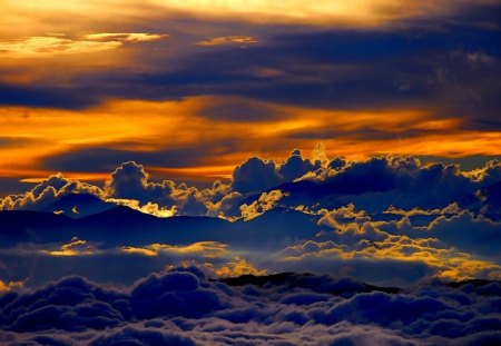
M1 211L0 239L2 247L61 243L78 237L102 247L220 241L237 248L274 248L284 241L314 237L318 233L316 223L316 216L285 208L235 223L212 217L158 218L124 206L81 218L40 211Z

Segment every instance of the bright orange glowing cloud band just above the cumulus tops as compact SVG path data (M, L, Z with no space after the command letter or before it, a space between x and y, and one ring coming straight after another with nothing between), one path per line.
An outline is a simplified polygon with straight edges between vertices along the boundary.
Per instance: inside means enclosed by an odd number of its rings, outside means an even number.
M238 99L244 106L265 109L271 116L235 120L204 116L204 109L227 100L224 97L158 102L110 100L86 110L1 107L2 138L11 144L2 146L0 176L46 177L50 171L41 165L45 158L86 148L92 156L92 148L98 147L139 154L196 148L203 158L193 165L149 166L154 166L156 176L210 178L227 177L234 166L253 155L283 159L292 148L310 150L318 142L327 148L328 157L348 159L374 154L463 157L501 152L501 132L465 130L461 119L440 117L436 111L340 111ZM373 137L372 132L382 136ZM69 171L67 176L99 179L102 174L109 170Z

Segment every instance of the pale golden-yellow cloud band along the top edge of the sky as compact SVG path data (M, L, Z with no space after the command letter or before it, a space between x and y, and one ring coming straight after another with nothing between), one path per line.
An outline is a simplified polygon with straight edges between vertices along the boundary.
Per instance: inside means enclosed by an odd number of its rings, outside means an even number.
M197 17L257 23L301 23L330 27L375 27L420 16L441 16L471 3L493 0L4 0L0 4L0 32L85 32L104 22L124 28L139 20Z

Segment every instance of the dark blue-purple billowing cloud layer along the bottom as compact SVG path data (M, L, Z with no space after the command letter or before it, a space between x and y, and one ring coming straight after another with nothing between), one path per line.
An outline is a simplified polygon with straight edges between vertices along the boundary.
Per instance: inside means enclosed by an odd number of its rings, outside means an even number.
M331 276L209 280L190 267L128 288L67 277L0 296L0 338L90 345L374 345L498 340L499 283L422 283L405 290ZM313 337L314 335L314 337Z

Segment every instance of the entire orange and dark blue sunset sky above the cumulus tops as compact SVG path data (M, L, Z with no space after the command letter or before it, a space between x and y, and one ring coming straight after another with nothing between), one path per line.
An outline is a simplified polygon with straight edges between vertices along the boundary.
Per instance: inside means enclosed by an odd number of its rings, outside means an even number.
M62 171L501 154L497 1L2 1L0 191Z

